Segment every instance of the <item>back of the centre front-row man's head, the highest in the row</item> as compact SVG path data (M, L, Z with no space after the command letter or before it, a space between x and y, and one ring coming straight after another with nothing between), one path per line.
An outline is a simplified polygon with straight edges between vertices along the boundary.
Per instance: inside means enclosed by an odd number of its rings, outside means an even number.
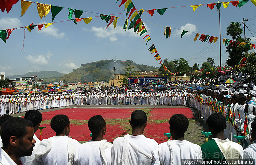
M147 125L147 115L142 110L135 110L131 113L130 124L133 128L146 127Z

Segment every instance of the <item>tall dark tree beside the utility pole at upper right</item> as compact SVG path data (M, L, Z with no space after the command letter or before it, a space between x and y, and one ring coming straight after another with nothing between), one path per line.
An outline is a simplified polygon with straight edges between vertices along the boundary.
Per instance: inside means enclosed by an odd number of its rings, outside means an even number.
M233 40L236 40L236 43L229 44L226 47L226 51L228 52L228 66L234 66L239 63L242 57L244 57L245 47L237 46L237 42L246 42L251 44L251 39L242 38L241 34L243 34L243 29L241 28L240 22L231 22L227 28L227 35L230 35Z

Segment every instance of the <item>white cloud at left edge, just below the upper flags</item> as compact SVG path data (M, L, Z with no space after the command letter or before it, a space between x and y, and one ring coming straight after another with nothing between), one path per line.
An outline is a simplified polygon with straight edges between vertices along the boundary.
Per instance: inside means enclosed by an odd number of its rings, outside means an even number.
M22 24L18 18L3 17L0 19L1 29L19 28Z

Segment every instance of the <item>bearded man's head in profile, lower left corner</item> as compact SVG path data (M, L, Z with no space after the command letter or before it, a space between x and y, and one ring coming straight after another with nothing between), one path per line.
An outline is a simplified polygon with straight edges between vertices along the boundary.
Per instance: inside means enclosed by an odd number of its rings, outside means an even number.
M30 156L35 146L34 128L31 121L12 117L6 120L1 129L1 138L5 151L14 152L17 158Z

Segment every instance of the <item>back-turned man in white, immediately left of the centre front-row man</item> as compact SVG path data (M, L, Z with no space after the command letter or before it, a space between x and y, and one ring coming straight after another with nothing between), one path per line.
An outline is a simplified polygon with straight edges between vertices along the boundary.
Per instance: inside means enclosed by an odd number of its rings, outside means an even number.
M92 138L78 146L75 151L74 165L111 165L113 144L103 139L106 133L106 122L101 115L93 116L88 121Z

